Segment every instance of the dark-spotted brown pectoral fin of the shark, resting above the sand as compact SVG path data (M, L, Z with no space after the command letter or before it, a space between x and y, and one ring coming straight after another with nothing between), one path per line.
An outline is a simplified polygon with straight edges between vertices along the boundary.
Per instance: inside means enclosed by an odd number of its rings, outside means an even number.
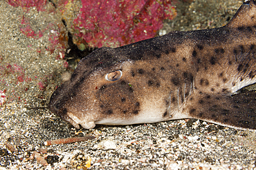
M193 118L236 129L256 129L256 92L227 96L203 94L191 96L188 113Z

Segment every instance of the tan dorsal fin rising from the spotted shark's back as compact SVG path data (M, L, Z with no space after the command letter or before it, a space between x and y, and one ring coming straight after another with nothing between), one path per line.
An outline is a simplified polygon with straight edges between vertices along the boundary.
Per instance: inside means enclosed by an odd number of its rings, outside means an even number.
M256 1L246 1L226 25L230 28L246 28L256 25Z

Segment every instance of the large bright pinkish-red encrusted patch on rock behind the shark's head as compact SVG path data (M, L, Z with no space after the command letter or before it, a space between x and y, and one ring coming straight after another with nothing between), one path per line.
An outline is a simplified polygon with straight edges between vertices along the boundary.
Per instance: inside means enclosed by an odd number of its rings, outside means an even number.
M82 0L74 28L91 47L117 47L156 36L176 10L170 0Z

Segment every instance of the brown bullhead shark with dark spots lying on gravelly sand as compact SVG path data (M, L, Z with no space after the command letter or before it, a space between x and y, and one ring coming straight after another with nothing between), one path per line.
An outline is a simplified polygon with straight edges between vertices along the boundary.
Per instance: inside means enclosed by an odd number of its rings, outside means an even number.
M256 2L209 30L101 47L78 63L48 108L79 129L196 118L256 129Z

